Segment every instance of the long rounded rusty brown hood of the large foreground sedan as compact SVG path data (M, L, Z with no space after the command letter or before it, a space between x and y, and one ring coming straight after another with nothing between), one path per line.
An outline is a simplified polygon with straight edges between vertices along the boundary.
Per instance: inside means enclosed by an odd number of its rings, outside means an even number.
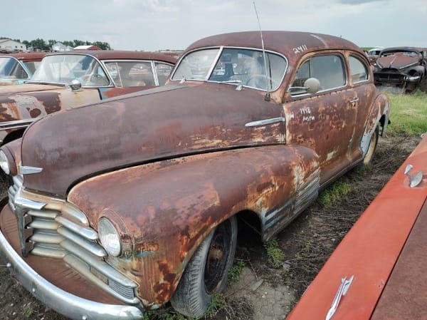
M28 189L65 197L93 175L180 155L284 142L282 106L235 86L164 86L48 115L23 135Z

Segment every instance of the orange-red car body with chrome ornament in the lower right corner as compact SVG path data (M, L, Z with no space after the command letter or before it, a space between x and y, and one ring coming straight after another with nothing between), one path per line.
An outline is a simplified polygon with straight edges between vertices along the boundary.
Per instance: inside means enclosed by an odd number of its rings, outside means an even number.
M424 134L287 320L426 319L426 159Z

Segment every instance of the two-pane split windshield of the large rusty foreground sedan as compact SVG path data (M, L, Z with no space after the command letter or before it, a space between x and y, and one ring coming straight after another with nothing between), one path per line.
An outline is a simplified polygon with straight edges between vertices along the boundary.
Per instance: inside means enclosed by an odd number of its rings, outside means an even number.
M285 75L287 61L275 53L242 48L209 48L187 54L172 80L235 83L275 91ZM265 70L265 66L267 69Z

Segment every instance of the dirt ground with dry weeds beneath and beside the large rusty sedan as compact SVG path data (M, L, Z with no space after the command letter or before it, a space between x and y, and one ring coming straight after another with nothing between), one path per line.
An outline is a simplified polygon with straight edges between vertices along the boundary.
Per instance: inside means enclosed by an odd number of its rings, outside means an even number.
M285 319L301 294L359 215L399 168L421 138L382 138L374 161L366 170L352 170L342 180L352 191L332 207L315 202L283 232L278 244L285 262L271 267L265 247L251 229L240 229L236 262L243 267L238 282L228 286L206 319ZM1 188L4 195L5 188ZM150 319L182 319L166 306ZM0 259L0 319L63 320L39 303L9 276Z

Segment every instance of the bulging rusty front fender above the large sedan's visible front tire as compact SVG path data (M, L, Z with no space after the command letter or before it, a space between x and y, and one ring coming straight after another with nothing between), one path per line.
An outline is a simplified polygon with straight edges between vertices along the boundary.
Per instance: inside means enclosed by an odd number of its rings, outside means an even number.
M263 232L277 232L267 222L284 225L300 211L296 205L309 202L298 195L312 185L318 166L317 155L300 146L226 150L93 177L73 187L68 201L95 229L100 217L115 223L124 254L109 263L139 284L146 306L157 306L170 299L204 237L231 215L251 210ZM318 180L315 195L317 189Z

